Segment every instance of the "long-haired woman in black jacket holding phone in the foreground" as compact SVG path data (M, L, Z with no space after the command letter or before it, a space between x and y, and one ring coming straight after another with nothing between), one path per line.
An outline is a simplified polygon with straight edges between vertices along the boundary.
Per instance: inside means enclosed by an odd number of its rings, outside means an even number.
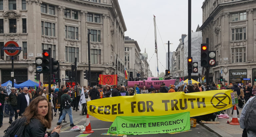
M51 128L51 110L51 104L47 101L46 97L39 96L33 99L24 112L24 117L26 117L24 136L59 137L61 125L54 127L50 133L46 130Z

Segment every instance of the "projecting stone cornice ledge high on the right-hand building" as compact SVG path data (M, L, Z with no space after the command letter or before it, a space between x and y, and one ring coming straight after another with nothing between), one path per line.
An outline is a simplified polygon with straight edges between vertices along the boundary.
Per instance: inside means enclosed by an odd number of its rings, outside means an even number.
M242 4L248 4L248 3L255 3L255 2L256 2L256 0L240 0L240 1L231 1L231 2L224 2L224 3L218 4L217 7L209 15L209 17L202 24L202 26L200 27L200 30L203 30L214 19L214 17L219 13L219 11L221 11L223 8L230 7L230 6L236 6L236 5L242 5Z

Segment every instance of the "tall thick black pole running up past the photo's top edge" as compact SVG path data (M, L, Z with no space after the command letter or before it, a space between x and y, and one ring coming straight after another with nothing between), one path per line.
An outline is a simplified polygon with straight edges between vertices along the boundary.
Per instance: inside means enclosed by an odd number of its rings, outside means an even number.
M188 0L188 57L191 57L191 0ZM191 73L189 72L188 80L191 80Z

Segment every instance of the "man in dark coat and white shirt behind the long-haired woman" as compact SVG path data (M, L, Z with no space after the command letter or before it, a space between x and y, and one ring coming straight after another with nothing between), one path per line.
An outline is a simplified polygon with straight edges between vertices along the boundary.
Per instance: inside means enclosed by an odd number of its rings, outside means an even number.
M18 95L18 102L17 102L17 112L19 113L19 116L25 112L25 109L29 106L29 103L31 101L29 95L28 95L28 88L24 87L23 92Z

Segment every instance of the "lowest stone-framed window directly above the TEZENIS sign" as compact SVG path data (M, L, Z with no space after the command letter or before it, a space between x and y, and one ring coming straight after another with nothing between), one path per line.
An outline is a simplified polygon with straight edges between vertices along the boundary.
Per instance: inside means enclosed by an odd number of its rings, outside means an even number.
M246 48L232 48L232 63L246 62Z

